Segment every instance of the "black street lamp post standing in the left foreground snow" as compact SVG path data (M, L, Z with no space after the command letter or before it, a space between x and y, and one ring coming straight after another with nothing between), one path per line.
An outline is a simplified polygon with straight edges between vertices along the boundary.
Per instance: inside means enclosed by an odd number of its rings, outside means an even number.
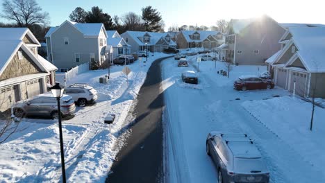
M60 151L61 151L61 167L62 167L62 180L63 183L66 182L65 179L65 153L63 150L63 135L62 135L62 123L61 123L61 109L60 109L60 98L63 96L64 89L60 87L60 82L56 82L56 85L50 87L51 92L56 100L58 101L58 123L60 132Z

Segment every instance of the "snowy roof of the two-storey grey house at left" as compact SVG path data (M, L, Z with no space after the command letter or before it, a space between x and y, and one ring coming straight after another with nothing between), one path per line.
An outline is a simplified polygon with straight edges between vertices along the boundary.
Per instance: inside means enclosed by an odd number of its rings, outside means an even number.
M84 36L99 36L99 33L101 32L101 29L103 28L102 23L76 23L73 21L65 21L63 22L60 26L63 24L71 24L74 26L76 29L78 29L81 33L83 33ZM51 27L45 37L50 37L53 32L55 32L60 26L57 27ZM104 28L105 30L105 28ZM106 34L106 31L104 31Z

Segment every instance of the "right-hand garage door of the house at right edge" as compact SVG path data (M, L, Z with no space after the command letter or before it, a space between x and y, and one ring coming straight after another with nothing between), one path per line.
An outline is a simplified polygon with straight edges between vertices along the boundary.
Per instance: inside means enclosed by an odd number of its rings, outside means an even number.
M305 96L306 94L306 81L307 73L301 73L297 71L290 72L290 92L294 90L294 82L296 82L296 94L299 96Z

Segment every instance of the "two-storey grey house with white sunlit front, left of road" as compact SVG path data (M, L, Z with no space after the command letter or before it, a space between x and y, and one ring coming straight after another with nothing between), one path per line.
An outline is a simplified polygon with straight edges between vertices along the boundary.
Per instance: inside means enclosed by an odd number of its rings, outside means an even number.
M101 65L106 60L107 34L103 24L64 21L60 26L51 27L45 38L48 60L59 71L68 71L86 62Z

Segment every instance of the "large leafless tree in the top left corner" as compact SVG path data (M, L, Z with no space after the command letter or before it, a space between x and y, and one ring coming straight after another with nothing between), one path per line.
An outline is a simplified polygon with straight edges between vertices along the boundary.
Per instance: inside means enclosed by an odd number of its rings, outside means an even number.
M49 13L42 12L35 0L4 0L1 17L16 21L19 27L49 23Z

